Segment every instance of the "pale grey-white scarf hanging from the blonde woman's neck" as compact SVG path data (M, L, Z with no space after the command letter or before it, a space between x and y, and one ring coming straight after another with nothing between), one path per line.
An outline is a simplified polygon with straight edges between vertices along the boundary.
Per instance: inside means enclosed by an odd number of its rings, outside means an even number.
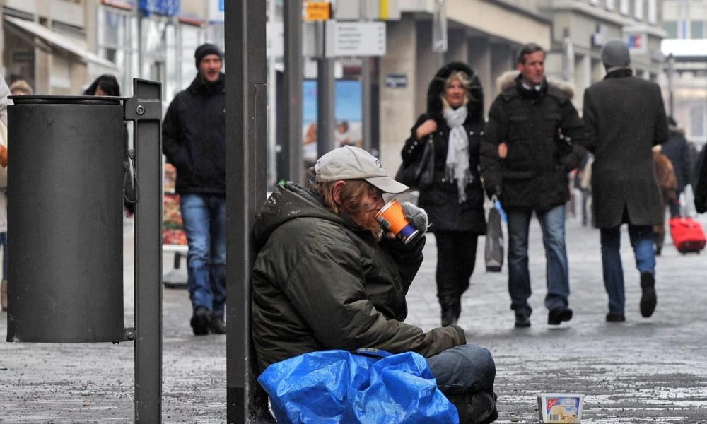
M464 129L467 120L467 107L445 107L444 119L450 127L447 146L447 167L445 177L450 181L454 179L459 189L459 203L467 200L467 184L472 182L472 173L469 171L469 135Z

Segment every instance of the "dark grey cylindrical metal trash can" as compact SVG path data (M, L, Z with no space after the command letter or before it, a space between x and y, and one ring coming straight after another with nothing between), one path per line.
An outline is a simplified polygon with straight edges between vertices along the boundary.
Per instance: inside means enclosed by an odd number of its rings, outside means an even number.
M7 341L125 340L122 100L8 107Z

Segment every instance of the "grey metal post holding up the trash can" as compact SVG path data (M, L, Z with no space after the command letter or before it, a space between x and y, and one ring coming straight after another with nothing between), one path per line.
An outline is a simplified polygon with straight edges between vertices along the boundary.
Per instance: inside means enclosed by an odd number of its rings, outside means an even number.
M135 78L135 422L162 422L162 86Z

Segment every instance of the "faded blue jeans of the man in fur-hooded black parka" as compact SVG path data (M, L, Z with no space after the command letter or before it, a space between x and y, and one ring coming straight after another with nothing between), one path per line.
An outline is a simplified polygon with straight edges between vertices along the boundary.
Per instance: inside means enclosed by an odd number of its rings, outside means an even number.
M565 247L565 205L548 211L535 211L542 229L542 242L547 260L547 295L545 307L567 307L570 294L569 268ZM508 216L508 293L510 309L532 312L530 271L528 271L528 230L532 209L506 211Z

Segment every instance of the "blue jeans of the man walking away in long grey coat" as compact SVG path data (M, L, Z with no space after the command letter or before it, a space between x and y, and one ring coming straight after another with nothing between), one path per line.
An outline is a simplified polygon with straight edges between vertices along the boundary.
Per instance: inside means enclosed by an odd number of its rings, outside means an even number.
M621 266L621 226L601 230L602 268L604 287L609 295L609 312L624 313L624 268ZM639 272L655 275L655 252L653 251L653 227L629 224L629 240L636 257Z

